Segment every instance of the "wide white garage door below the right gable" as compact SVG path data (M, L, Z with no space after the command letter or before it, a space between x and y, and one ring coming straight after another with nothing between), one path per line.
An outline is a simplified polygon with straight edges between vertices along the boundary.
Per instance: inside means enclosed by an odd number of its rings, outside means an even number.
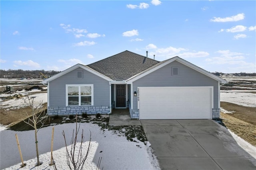
M212 119L213 87L138 87L140 119Z

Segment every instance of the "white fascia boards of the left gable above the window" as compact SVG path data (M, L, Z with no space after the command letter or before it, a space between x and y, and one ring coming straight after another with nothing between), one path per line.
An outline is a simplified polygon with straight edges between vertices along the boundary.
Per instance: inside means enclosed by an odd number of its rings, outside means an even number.
M69 73L70 71L73 71L74 69L77 69L79 67L84 69L84 70L86 70L86 71L89 71L90 73L93 73L93 74L101 77L102 79L105 79L107 81L112 81L112 79L110 79L109 77L106 77L105 75L99 73L98 71L95 71L95 70L91 69L88 66L81 65L81 64L76 64L76 65L74 65L74 66L72 66L72 67L70 67L70 68L68 68L68 69L66 69L66 70L64 70L64 71L62 71L62 72L60 72L60 73L50 77L50 78L48 78L48 79L45 79L44 81L42 81L42 84L47 84L48 82L50 82L50 81L52 81L52 80L54 80L54 79L56 79L56 78L58 78L58 77L60 77L60 76L62 76L64 74L66 74L66 73Z

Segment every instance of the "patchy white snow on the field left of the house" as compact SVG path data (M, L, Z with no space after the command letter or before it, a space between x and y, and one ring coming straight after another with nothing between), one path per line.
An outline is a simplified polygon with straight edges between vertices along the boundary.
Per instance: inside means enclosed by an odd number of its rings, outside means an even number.
M31 91L17 91L16 93L12 93L12 94L4 94L2 93L0 95L0 97L7 97L7 96L13 96L16 94L21 94L24 96L29 96L29 97L34 97L34 106L38 106L38 104L42 101L43 103L47 103L47 93L36 93L39 92L41 90L38 89L32 89ZM31 93L36 93L36 94L31 94ZM10 99L7 101L2 101L0 104L0 108L1 109L6 109L6 110L10 110L10 109L20 109L22 107L26 107L23 99L26 97L22 97L20 99Z

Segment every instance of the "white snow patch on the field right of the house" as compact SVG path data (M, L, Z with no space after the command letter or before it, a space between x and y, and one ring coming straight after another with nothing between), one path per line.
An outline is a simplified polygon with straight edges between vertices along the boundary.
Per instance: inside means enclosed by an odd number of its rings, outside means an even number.
M252 91L256 90L246 92ZM220 101L226 101L246 107L256 107L256 93L245 93L244 90L221 90Z

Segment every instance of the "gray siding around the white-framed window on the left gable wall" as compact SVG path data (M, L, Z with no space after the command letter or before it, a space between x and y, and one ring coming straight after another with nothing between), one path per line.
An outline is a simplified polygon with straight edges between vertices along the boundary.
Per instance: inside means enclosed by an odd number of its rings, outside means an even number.
M76 77L76 71L83 71L83 78ZM110 104L109 82L82 68L75 69L49 82L49 106L66 106L66 84L93 84L94 106Z

